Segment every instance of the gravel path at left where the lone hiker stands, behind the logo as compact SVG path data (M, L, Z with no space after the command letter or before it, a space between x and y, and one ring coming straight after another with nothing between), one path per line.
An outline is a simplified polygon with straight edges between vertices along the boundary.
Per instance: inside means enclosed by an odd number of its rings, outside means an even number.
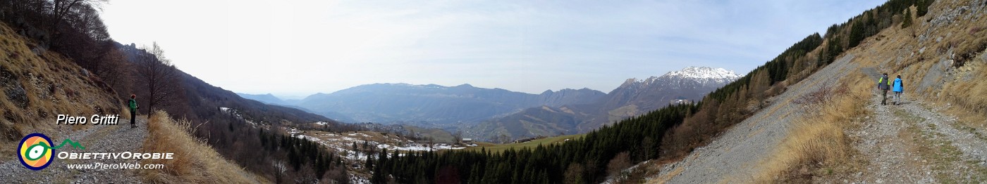
M92 128L76 131L69 136L51 141L61 144L65 139L79 142L85 150L66 146L57 152L69 153L122 153L139 152L147 137L147 119L137 118L138 128L131 129L129 119L119 120L117 125L84 125ZM57 154L53 155L57 157ZM73 163L136 163L139 159L58 159L41 170L31 170L17 159L0 163L0 183L140 183L136 169L68 169Z

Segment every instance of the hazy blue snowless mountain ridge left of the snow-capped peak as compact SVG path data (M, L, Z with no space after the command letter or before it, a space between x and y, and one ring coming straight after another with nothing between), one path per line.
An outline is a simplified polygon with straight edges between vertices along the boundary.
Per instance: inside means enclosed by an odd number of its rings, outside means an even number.
M344 115L356 122L473 124L541 105L591 103L604 92L580 89L539 94L484 89L464 84L372 84L339 92L316 93L294 104L330 118Z

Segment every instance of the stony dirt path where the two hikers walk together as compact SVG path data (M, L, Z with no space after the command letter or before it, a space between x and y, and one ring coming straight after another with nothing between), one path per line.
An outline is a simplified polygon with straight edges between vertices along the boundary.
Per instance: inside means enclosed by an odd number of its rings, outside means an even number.
M876 79L876 72L869 73ZM907 91L906 91L907 92ZM965 126L954 117L911 100L880 105L877 91L855 141L855 162L861 171L816 182L855 183L984 183L987 181L987 132Z

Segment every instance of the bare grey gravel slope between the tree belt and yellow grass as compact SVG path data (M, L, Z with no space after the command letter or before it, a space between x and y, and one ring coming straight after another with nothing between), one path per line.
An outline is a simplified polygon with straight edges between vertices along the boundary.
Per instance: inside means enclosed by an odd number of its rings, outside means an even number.
M706 147L696 149L680 161L662 165L650 183L736 183L750 181L754 167L788 136L789 126L804 109L792 102L808 92L830 86L857 72L849 54L771 97L768 105L753 116L722 133Z

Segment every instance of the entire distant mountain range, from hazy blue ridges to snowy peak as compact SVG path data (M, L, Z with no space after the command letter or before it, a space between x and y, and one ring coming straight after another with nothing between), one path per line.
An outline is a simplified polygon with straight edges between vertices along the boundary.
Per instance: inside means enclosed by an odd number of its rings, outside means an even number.
M238 93L268 104L304 109L343 122L441 127L488 140L575 134L641 115L673 99L698 100L739 76L721 68L688 67L645 80L629 79L604 93L589 89L539 94L465 84L371 84L301 100Z

